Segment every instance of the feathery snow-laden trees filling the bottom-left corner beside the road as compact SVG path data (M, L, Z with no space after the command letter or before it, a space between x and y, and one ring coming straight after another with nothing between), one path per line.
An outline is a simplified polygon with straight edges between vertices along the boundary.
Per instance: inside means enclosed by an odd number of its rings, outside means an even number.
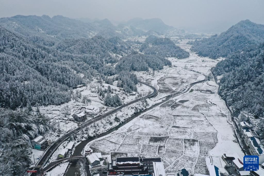
M39 112L0 108L0 175L26 175L31 165L30 138L52 128Z

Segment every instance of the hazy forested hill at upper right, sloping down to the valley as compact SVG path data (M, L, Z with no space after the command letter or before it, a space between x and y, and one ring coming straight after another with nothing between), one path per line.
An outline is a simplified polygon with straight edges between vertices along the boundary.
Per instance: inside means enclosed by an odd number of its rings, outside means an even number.
M200 56L217 59L241 52L264 41L264 25L249 20L240 21L220 35L192 42L191 50Z

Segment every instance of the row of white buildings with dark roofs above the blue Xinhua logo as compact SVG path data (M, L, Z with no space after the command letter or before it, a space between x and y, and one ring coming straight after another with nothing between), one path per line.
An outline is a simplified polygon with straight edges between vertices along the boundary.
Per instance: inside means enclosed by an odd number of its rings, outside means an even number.
M259 157L259 164L264 163L264 146L261 144L256 132L252 131L251 126L245 121L240 122L239 131L251 155Z

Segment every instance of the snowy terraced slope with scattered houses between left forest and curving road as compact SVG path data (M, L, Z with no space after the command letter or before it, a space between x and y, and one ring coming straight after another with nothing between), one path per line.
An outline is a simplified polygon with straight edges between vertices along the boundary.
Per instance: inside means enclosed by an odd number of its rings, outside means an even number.
M48 139L51 139L51 141L55 141L59 136L78 127L79 123L74 120L74 114L85 112L89 114L87 117L87 120L89 120L95 116L102 115L108 111L113 110L114 108L107 107L103 104L103 100L100 99L98 94L95 92L97 87L107 89L108 86L110 86L112 89L112 95L117 94L123 103L128 103L142 96L146 96L147 94L152 92L152 89L150 87L144 84L138 84L137 92L126 94L122 89L116 87L116 82L114 82L114 85L93 82L87 84L87 86L80 86L73 90L74 92L78 90L81 93L81 97L86 96L91 99L91 104L84 104L81 102L81 99L79 99L78 102L72 100L68 103L64 103L58 106L49 105L39 107L40 112L47 115L50 118L51 123L54 123L55 127L55 130L51 131L50 133L44 134L44 136ZM68 106L70 110L70 114L67 116L65 116L63 112L63 108L65 106ZM106 108L107 111L103 112L101 110L102 107Z

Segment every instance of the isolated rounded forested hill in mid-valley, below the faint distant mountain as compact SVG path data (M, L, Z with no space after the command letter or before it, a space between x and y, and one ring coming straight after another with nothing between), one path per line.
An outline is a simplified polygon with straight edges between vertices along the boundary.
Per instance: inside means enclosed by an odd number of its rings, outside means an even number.
M141 45L140 52L163 57L177 57L179 59L189 57L187 51L176 46L170 39L155 36L150 36L145 40L145 43Z

